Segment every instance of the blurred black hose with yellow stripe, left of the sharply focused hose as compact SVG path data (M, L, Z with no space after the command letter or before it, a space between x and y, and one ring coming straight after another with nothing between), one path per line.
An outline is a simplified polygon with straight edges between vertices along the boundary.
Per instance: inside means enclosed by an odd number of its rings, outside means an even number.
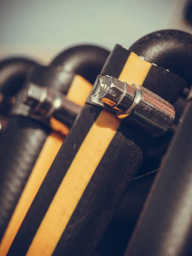
M95 49L96 47L93 48ZM73 49L71 49L71 54L73 54ZM105 51L105 54L107 55L107 51ZM70 59L70 61L72 60ZM78 59L78 64L80 65L81 61L85 70L86 63L84 59ZM87 67L89 67L89 62L87 62ZM81 75L86 76L86 73L82 72ZM90 70L89 75L94 76L94 70ZM54 88L66 94L67 99L72 102L84 105L92 86L82 76L54 65L49 67L38 66L29 74L26 86L28 83L34 83L39 86ZM20 224L64 140L63 136L58 136L49 127L42 125L41 122L20 116L12 119L12 122L17 122L18 125L15 125L14 131L9 125L4 139L7 148L14 148L11 163L9 161L9 152L4 151L3 148L0 156L2 160L0 166L3 166L0 208L2 209L1 212L4 213L0 215L1 255L7 254L17 230L20 228ZM21 122L20 120L23 121ZM30 125L26 125L27 123L30 123ZM35 128L32 129L34 126ZM12 137L16 135L17 143L14 140L6 140L10 131L12 132ZM31 140L31 138L34 139ZM24 161L25 164L23 164ZM17 190L13 191L13 186L16 186Z

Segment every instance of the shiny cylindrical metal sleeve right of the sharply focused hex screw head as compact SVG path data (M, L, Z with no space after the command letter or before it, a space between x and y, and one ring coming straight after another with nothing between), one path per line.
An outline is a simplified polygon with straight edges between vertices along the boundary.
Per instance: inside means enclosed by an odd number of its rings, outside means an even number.
M138 84L128 85L136 90L135 97L126 111L117 111L120 119L139 125L145 133L153 136L164 134L175 119L175 109L166 100Z

